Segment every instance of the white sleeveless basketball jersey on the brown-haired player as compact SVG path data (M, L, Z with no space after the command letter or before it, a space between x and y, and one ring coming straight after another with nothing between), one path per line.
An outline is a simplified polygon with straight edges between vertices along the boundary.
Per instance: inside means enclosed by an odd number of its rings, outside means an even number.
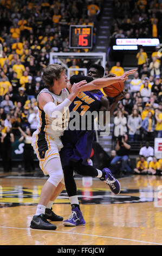
M69 92L68 89L62 89L62 92L60 95L56 95L54 93L51 93L50 90L47 88L44 88L41 90L41 92L38 94L38 96L41 93L49 93L54 100L55 105L59 105L62 103L68 96ZM37 100L38 100L37 96ZM37 102L38 106L38 102ZM59 138L60 136L63 135L64 130L68 126L68 121L69 121L69 108L67 108L67 112L63 114L63 118L61 119L61 123L59 123L59 127L56 125L53 125L54 118L49 118L48 115L39 108L39 125L37 128L37 132L40 133L46 133L46 135L50 135L53 138Z

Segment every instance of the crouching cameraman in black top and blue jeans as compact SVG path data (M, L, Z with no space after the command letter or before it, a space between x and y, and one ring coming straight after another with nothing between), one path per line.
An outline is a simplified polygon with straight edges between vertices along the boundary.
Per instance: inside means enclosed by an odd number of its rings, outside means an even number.
M119 136L116 141L116 156L111 161L111 166L115 170L116 163L118 161L121 161L121 172L133 172L131 167L128 165L128 155L129 155L129 149L131 148L131 145L127 144L126 141L128 139L128 136L125 134L124 136Z

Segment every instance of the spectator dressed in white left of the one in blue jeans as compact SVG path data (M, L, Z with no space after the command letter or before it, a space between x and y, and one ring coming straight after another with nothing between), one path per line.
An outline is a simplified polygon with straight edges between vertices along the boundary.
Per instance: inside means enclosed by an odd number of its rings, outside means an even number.
M123 136L127 132L127 119L121 110L118 110L116 117L114 118L114 136Z

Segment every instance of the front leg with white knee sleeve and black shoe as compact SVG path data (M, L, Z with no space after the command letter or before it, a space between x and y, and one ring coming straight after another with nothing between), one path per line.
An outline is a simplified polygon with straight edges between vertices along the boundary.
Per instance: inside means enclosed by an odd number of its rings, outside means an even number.
M42 188L40 200L30 227L36 229L56 229L55 225L47 221L44 214L51 195L53 195L57 185L63 179L60 157L51 158L44 166L44 172L49 175L49 179Z

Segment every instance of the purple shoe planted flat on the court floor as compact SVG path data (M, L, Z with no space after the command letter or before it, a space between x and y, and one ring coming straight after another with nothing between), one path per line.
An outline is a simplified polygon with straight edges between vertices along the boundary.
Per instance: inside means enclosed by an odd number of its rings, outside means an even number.
M72 213L70 214L68 220L63 221L64 226L78 226L85 224L86 222L83 218L83 215L77 207L72 209Z

